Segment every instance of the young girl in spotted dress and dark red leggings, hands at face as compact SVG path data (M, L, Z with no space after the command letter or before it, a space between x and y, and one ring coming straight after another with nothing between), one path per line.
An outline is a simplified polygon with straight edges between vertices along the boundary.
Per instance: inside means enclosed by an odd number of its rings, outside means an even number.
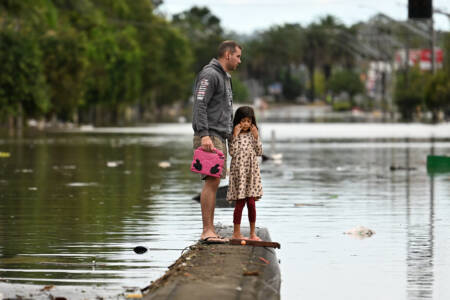
M255 201L263 195L257 156L262 155L255 113L249 106L238 108L233 120L233 137L229 145L231 155L230 184L227 200L236 201L233 214L233 239L245 239L241 235L242 210L247 203L250 221L250 239L260 241L255 233Z

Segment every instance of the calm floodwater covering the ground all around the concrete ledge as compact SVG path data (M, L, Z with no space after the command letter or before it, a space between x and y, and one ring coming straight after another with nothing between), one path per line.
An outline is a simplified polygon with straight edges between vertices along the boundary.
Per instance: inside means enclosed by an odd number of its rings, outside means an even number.
M260 127L283 155L257 203L282 299L450 299L450 174L426 170L448 124ZM191 143L188 124L0 138L0 296L117 299L163 275L201 231ZM376 233L343 234L358 225Z

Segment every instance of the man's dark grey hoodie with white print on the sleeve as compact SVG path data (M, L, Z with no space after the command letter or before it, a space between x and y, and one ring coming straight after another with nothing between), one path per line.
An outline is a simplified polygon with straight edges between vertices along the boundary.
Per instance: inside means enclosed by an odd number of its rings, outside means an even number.
M194 135L228 138L233 127L232 106L231 76L213 58L200 71L194 83Z

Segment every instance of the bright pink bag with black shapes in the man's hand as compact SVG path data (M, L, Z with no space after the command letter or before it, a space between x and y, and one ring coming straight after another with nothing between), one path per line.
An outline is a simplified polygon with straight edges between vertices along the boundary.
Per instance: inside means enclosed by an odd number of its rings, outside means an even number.
M225 156L219 149L214 148L213 151L205 151L202 147L195 149L194 158L191 163L191 171L212 177L220 177Z

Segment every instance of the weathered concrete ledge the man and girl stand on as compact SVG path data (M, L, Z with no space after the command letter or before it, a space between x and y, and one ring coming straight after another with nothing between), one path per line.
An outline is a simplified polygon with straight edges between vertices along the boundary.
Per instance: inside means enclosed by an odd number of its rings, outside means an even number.
M231 236L232 227L216 228ZM248 228L243 229L248 236ZM257 234L270 241L269 232ZM161 278L143 290L144 299L280 299L275 249L195 244Z

